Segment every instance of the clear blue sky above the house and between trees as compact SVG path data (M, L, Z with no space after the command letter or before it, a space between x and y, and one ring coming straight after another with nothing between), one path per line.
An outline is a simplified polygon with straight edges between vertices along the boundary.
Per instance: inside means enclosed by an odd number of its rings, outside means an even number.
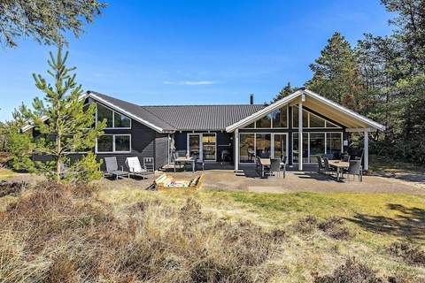
M336 31L355 44L390 33L379 0L108 1L79 39L69 65L85 90L139 104L256 103L288 82L302 86L308 67ZM0 120L42 94L51 46L30 38L0 49Z

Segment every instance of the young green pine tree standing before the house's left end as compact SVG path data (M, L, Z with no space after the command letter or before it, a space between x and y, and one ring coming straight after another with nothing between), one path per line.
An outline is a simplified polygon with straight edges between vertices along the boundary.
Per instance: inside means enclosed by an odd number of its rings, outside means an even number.
M44 98L34 99L33 110L25 105L19 108L19 115L40 133L32 140L31 148L35 154L52 158L51 162L35 164L36 170L58 182L63 177L61 164L69 164L68 156L73 152L94 148L105 126L105 122L95 125L96 106L85 106L81 85L76 83L75 73L71 73L75 67L66 67L67 57L68 52L63 56L60 48L56 58L50 52L48 73L52 83L33 74L35 86L45 94Z

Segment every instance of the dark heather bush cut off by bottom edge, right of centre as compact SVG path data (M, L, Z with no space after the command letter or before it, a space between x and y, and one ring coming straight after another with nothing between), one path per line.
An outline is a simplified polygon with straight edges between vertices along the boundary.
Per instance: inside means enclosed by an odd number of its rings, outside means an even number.
M331 275L313 276L314 283L379 283L383 279L367 265L361 264L355 258L349 258L345 264L336 268Z

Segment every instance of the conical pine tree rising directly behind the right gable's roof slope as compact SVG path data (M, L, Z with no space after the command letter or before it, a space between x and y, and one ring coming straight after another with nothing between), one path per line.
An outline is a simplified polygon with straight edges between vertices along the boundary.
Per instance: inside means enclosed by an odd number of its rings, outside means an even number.
M310 69L313 78L305 84L307 88L357 109L356 95L361 88L359 71L355 52L344 36L333 34Z

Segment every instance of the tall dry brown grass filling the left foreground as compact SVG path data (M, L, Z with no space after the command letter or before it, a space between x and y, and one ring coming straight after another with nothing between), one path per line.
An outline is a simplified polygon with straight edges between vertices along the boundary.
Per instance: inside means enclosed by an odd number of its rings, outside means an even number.
M0 214L0 281L264 282L285 233L230 223L188 199L146 199L122 213L93 187L43 183Z

